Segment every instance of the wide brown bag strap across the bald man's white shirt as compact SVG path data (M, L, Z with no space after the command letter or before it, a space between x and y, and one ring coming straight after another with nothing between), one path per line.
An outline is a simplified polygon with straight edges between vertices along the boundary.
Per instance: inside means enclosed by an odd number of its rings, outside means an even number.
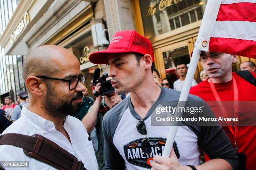
M0 135L0 145L13 145L23 148L27 156L59 170L86 170L82 161L78 161L67 150L41 135L28 136L6 133Z

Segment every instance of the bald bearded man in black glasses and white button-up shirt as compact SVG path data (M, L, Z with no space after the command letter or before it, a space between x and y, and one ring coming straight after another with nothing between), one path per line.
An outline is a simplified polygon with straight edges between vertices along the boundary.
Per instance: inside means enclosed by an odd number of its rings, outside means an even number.
M3 134L39 134L81 160L87 170L98 169L84 125L70 116L81 109L85 78L79 61L69 50L55 45L32 50L23 63L23 79L30 102ZM30 169L52 169L25 155L22 148L0 145L0 153L1 161L29 161Z

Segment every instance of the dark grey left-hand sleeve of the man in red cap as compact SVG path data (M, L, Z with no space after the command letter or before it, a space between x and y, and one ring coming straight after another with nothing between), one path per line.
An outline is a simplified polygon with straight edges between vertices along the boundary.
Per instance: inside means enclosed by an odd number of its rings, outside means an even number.
M125 170L125 162L112 142L110 123L105 115L102 123L104 136L105 168L106 170Z

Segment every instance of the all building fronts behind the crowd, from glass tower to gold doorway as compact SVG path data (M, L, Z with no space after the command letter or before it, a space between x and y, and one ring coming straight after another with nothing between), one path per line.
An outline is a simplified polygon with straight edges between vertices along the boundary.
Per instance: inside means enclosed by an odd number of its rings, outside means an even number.
M90 53L103 50L115 32L136 30L151 41L155 67L162 78L175 73L182 60L189 66L190 54L200 28L207 0L1 0L0 93L24 90L22 61L38 46L53 44L72 51L87 74L89 86L96 68ZM107 41L108 40L108 41ZM253 60L239 57L234 66ZM256 62L253 60L253 62ZM200 63L195 73L199 82ZM173 75L173 74L172 74Z

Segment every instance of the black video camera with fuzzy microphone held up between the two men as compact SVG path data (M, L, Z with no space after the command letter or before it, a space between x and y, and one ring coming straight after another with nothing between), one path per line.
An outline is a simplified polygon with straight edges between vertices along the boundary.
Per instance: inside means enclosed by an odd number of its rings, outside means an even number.
M108 78L108 73L105 73L100 77L100 69L95 69L93 73L92 86L95 86L100 82L100 95L108 95L115 92L110 80L106 80L106 78Z

